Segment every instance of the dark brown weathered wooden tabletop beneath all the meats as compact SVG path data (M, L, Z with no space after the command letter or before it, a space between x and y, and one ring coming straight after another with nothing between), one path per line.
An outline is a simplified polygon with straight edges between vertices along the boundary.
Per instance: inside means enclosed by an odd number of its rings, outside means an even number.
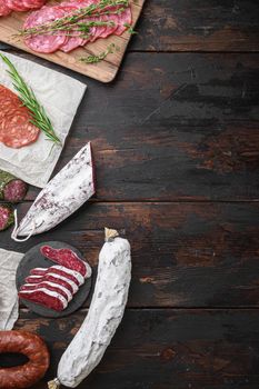
M111 84L34 59L88 83L58 168L91 140L98 192L49 233L1 246L63 240L96 270L104 226L132 245L123 322L81 389L259 387L258 14L256 0L147 0ZM88 305L60 320L21 307L16 327L50 347L47 379Z

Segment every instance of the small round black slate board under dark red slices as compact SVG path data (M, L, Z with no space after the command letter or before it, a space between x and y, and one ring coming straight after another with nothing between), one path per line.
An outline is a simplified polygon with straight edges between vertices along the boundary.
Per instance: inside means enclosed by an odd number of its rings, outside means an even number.
M17 289L19 290L20 287L24 283L26 277L30 275L30 270L33 268L49 268L53 265L58 265L56 262L50 261L49 259L44 258L41 252L40 248L44 245L51 246L54 249L61 249L61 248L68 248L73 250L80 258L83 259L82 255L78 249L74 247L59 241L49 241L49 242L42 242L40 245L37 245L32 247L22 258L21 262L19 263L19 267L17 269ZM57 312L52 309L44 308L43 306L37 305L34 302L21 299L21 301L24 303L27 308L29 308L31 311L49 318L61 318L64 316L68 316L72 312L74 312L77 309L79 309L86 299L88 298L88 295L91 289L91 278L87 278L86 282L79 288L78 292L73 296L73 299L69 302L68 307L61 311Z

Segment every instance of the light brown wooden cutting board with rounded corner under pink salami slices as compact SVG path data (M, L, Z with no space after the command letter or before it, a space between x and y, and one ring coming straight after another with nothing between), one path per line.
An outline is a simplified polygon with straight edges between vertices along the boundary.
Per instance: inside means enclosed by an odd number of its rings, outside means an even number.
M61 1L50 1L49 3L57 3ZM141 13L145 0L131 0L131 9L133 14L133 27ZM70 53L57 51L52 54L41 54L30 50L24 43L23 39L14 37L22 28L23 21L28 12L12 12L9 17L0 18L0 41L11 44L18 49L33 53L34 56L44 58L51 62L61 64L66 68L72 69L79 73L89 76L102 82L110 82L114 79L127 46L130 41L131 34L124 32L121 37L111 36L108 39L98 39L94 43L88 43L84 48L76 49ZM88 57L89 54L98 56L106 51L108 46L114 43L117 50L107 56L107 58L99 63L83 63L79 59Z

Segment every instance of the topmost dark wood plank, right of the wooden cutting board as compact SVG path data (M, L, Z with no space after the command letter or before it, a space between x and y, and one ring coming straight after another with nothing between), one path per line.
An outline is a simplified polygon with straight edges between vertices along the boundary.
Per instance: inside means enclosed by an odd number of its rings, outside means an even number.
M149 0L130 50L258 51L258 1Z

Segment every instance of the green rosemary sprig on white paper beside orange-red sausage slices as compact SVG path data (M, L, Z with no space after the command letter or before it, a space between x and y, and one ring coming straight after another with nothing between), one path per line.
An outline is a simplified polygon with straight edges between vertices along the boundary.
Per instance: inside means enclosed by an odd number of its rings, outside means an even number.
M8 66L8 74L12 80L14 89L19 92L19 99L26 106L31 113L31 123L38 127L49 140L54 143L61 144L60 139L54 133L54 129L48 118L44 108L37 100L33 90L27 86L26 81L17 71L12 62L3 54L0 53L1 59Z

